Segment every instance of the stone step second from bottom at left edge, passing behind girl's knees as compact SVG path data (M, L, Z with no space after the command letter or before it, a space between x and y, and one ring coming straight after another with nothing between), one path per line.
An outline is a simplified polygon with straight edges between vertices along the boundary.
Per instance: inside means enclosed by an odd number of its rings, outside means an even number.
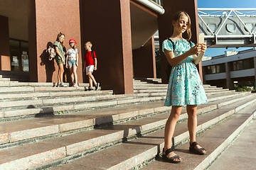
M198 112L204 113L217 108L216 105L198 106ZM95 125L117 123L127 119L154 115L170 111L163 102L142 103L134 106L103 108L96 111L82 111L65 115L53 115L46 118L31 118L0 123L1 147L17 145L19 141L30 142L35 137L60 134L70 130L91 128ZM184 110L185 111L185 110ZM26 140L26 141L25 141ZM38 139L37 139L38 140ZM4 145L5 144L5 145Z

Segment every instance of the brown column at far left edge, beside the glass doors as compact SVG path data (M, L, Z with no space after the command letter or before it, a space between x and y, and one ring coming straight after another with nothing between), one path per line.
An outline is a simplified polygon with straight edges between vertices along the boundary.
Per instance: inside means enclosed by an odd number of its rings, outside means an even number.
M11 70L9 18L0 16L0 70Z

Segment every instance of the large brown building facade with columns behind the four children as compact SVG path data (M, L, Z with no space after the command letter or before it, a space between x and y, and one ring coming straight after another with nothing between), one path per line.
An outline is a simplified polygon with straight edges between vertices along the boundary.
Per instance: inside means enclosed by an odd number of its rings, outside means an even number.
M82 57L85 42L91 41L99 63L94 74L102 89L132 94L134 77L156 78L152 37L156 30L160 41L170 36L171 16L180 10L190 14L197 35L196 0L0 0L0 70L28 73L28 81L56 82L58 66L48 60L46 49L62 32L65 47L70 38L78 42L78 82L87 82ZM162 54L161 67L166 65Z

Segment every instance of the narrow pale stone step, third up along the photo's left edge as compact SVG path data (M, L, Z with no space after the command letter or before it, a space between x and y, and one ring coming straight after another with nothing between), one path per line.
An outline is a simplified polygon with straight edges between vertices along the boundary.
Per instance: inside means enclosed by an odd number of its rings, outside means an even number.
M133 94L131 94L133 95ZM105 101L98 101L95 97L94 102L85 102L85 103L67 103L63 102L62 104L55 104L52 106L40 105L36 107L34 104L28 105L25 108L7 108L0 111L0 118L2 120L9 120L13 118L21 118L22 116L35 116L43 114L58 114L58 113L67 113L69 111L88 111L95 110L99 108L115 107L115 106L124 106L132 105L137 103L145 103L152 101L164 100L164 96L155 96L147 98L133 98L130 94L127 95L113 95L113 96L100 96L100 98L105 98ZM54 100L53 100L54 101ZM41 102L40 100L38 102ZM10 110L11 109L11 110Z

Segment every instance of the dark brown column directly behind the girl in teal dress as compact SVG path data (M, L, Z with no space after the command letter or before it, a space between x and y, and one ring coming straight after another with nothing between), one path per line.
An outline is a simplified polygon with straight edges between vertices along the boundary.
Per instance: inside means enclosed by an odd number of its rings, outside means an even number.
M184 5L186 4L186 5ZM184 1L170 1L163 0L164 15L159 16L158 25L159 25L159 42L160 42L160 50L162 48L161 42L163 42L166 38L171 36L171 19L174 13L177 11L186 11L191 17L191 32L192 32L192 42L197 42L197 35L199 33L198 28L198 10L197 10L197 0L184 0ZM162 82L167 83L165 69L168 65L166 57L163 52L161 52L161 79ZM202 67L199 65L199 73L201 74ZM202 79L202 74L201 74Z

